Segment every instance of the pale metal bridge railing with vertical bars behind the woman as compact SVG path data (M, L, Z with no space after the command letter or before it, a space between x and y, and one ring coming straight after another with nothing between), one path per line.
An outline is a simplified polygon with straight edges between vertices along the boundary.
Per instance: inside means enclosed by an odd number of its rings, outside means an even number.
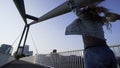
M116 55L118 67L120 65L120 45L110 47ZM51 54L40 54L35 63L48 65L54 68L84 68L83 50L66 51Z

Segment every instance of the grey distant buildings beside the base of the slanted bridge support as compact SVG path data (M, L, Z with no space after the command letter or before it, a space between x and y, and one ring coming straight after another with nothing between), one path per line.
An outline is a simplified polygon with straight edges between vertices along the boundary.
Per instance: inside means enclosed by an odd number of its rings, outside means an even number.
M23 49L23 46L19 47L19 50L18 50L18 55L22 53L22 49ZM23 50L23 54L25 56L32 56L33 55L33 51L29 51L29 45L25 45L24 47L24 50Z

